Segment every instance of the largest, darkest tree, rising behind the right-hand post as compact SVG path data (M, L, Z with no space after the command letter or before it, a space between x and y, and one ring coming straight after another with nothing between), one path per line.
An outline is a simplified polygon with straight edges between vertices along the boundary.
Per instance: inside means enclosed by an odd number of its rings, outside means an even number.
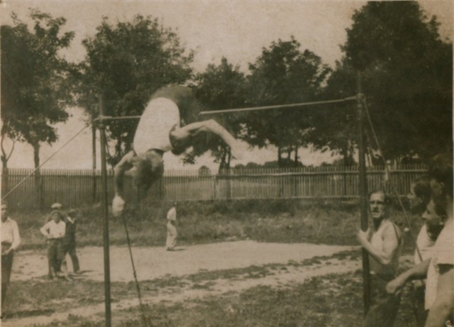
M347 29L345 59L362 72L387 159L453 147L453 50L438 26L416 1L380 1L355 11Z

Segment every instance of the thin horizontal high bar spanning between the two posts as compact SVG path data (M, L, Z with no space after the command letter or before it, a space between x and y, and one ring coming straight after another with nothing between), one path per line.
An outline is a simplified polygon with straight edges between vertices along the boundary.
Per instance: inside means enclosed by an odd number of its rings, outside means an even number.
M201 111L199 113L202 115L212 115L216 113L232 113L232 112L242 112L242 111L258 111L258 110L268 110L268 109L291 109L291 108L300 108L304 106L317 106L320 104L338 104L345 101L357 100L358 96L349 96L345 99L338 100L328 100L328 101L314 101L314 102L303 102L301 104L277 104L275 106L255 106L250 108L238 108L238 109L226 109L226 110L211 110L211 111ZM113 116L99 116L95 118L94 121L119 121L123 119L139 119L140 116L122 116L122 117L113 117Z

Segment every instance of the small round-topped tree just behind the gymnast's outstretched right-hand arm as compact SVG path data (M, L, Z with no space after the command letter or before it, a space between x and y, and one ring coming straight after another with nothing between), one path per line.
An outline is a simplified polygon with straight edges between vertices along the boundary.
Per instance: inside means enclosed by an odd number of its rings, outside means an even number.
M220 65L208 65L205 72L197 74L194 84L197 99L205 104L209 110L225 110L245 106L248 96L245 76L240 72L239 66L233 67L225 57L221 59ZM238 138L243 131L242 117L244 116L240 114L228 113L216 115L214 118ZM219 162L219 170L230 168L231 153L225 143L218 138L211 137L208 148L215 158L214 162ZM196 149L194 150L197 152ZM189 155L192 159L194 159L194 150Z

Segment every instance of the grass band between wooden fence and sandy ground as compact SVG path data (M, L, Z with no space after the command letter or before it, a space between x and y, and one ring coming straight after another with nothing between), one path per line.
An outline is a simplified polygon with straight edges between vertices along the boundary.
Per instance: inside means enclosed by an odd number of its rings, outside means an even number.
M79 208L77 245L102 246L102 214L99 206ZM133 245L162 246L165 244L165 204L140 204L126 209L126 219ZM179 244L213 243L223 240L252 239L260 242L323 243L358 245L355 234L360 214L355 204L306 204L301 200L248 200L187 202L178 204ZM21 228L23 249L44 248L39 228L46 214L36 211L13 213ZM400 211L392 218L406 226ZM418 219L411 216L414 231ZM406 249L414 249L411 235L406 233ZM120 218L111 218L111 245L125 245L126 233Z

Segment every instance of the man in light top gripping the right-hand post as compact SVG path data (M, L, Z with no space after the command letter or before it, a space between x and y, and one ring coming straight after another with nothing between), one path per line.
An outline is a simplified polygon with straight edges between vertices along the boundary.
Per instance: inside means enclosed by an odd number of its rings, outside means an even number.
M373 230L359 231L357 238L370 256L371 304L365 327L392 327L400 304L400 294L387 294L386 284L394 279L402 252L402 233L388 218L388 198L384 191L370 194Z

